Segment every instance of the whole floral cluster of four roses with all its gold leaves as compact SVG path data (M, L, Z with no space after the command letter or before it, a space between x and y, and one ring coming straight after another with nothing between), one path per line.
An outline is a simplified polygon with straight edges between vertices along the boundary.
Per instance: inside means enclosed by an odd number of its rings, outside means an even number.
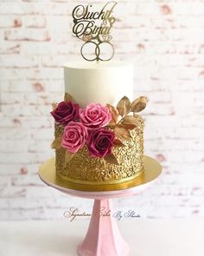
M147 98L143 96L133 102L124 96L116 108L99 103L80 108L66 93L64 101L54 104L51 112L56 125L63 126L63 135L55 138L52 148L66 149L65 164L85 145L90 156L118 164L112 149L124 147L123 141L131 139L130 130L139 126L137 112L142 111L146 103Z

